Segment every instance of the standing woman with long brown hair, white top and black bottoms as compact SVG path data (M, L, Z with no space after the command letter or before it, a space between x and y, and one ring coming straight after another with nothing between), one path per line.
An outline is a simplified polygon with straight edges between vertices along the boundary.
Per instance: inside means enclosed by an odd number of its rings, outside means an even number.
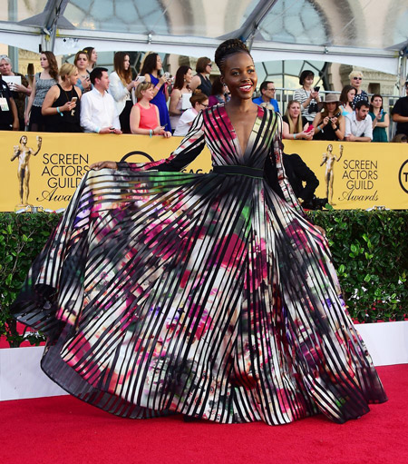
M131 107L135 103L133 89L137 82L131 80L129 54L117 52L113 58L115 70L109 76L109 93L112 95L119 114L122 133L131 133Z

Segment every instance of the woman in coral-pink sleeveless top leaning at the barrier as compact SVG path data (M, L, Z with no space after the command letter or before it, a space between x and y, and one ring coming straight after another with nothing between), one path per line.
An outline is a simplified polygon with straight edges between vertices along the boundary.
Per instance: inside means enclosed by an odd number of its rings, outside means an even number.
M131 108L131 133L171 137L171 133L160 126L159 108L151 104L154 85L150 82L142 82L136 88L136 97L138 103Z

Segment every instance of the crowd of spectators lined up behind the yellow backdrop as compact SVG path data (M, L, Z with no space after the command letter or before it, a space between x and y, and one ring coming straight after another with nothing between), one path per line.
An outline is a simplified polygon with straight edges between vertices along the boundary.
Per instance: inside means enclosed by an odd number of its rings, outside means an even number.
M6 55L0 56L0 94L3 98L0 130L87 133L143 133L148 135L184 135L203 108L228 101L225 84L209 74L208 57L197 61L193 74L181 65L172 79L163 73L160 55L146 54L141 73L131 74L130 55L114 54L114 71L97 65L93 47L80 50L73 64L58 70L52 52L40 54L43 68L31 83L23 74L13 72ZM4 79L3 79L4 77ZM315 74L304 70L299 76L300 88L287 103L283 116L283 137L292 140L325 140L351 142L388 142L390 116L384 111L383 96L374 94L369 101L362 89L363 74L349 74L350 84L340 96L321 96L314 85ZM6 81L6 82L5 82ZM396 132L392 142L406 142L408 135L407 96L393 106L392 121ZM280 113L276 86L264 81L254 103Z

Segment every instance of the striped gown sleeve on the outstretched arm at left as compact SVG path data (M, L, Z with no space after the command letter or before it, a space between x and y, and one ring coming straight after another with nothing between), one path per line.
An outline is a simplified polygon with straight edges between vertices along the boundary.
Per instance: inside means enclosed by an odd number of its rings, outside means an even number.
M151 163L118 163L119 169L131 169L131 171L181 171L194 161L204 149L203 124L203 115L199 113L191 124L189 133L182 139L179 147L170 154L169 158Z

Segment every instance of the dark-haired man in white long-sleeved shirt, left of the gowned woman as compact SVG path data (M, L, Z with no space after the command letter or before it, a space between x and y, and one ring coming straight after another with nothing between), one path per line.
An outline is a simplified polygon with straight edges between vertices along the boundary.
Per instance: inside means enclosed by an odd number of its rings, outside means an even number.
M108 70L92 69L92 91L81 98L81 125L87 133L121 133L121 123L112 95L108 94Z

